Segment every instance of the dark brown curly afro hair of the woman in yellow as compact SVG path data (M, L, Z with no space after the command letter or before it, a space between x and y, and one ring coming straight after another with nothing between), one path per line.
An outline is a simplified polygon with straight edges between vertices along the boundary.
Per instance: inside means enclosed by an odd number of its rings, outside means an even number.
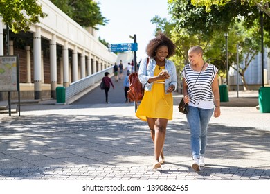
M146 53L150 58L154 58L156 56L156 49L159 46L167 46L168 47L168 56L170 58L175 53L176 46L175 44L163 33L159 33L154 39L151 39L150 42L146 46Z

